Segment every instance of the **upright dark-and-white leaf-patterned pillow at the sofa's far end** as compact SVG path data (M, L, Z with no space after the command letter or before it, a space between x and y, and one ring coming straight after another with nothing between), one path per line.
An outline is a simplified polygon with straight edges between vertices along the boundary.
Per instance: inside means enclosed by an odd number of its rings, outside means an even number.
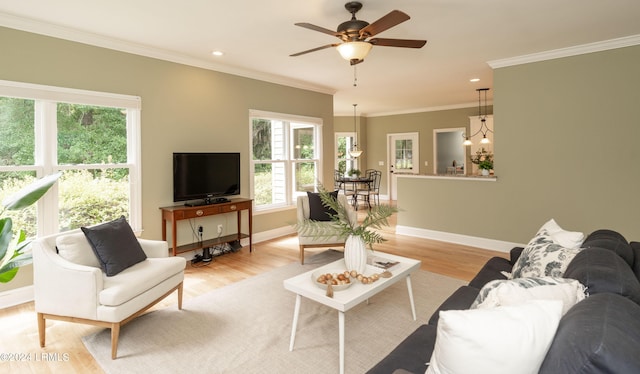
M513 265L509 279L562 277L569 262L581 250L556 244L546 230L540 230Z

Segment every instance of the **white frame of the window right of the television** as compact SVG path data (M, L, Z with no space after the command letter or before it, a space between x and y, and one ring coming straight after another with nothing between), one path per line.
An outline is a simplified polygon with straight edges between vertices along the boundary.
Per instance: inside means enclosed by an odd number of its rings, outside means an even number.
M316 180L322 183L322 127L323 121L322 118L316 117L307 117L307 116L299 116L294 114L285 114L285 113L276 113L276 112L267 112L262 110L249 110L249 194L252 199L255 199L255 182L254 182L254 170L256 163L265 163L264 160L253 160L253 120L254 119L270 119L274 121L282 121L285 126L284 133L285 137L285 151L283 154L286 155L285 159L277 160L278 162L284 162L285 164L285 178L286 178L286 197L285 201L282 203L269 204L265 206L257 206L254 201L254 211L256 212L267 212L267 211L277 211L281 209L289 209L290 207L295 206L296 198L301 193L297 193L295 190L295 180L293 179L293 168L296 163L300 162L315 162L317 165L316 168ZM293 149L291 144L291 134L293 131L293 126L291 124L306 124L312 125L314 128L314 158L308 160L297 160L293 157ZM276 160L272 160L276 161ZM267 163L269 160L266 161Z

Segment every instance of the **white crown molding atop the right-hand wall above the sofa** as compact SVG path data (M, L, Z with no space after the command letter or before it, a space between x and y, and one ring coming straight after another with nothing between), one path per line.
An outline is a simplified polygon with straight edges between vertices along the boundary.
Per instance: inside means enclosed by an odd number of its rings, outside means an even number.
M611 49L618 49L624 47L631 47L640 44L640 35L630 35L617 39L604 40L601 42L582 44L568 48L554 49L550 51L532 53L523 56L509 57L501 60L488 61L487 64L492 69L504 68L507 66L515 66L528 64L531 62L540 62L553 60L563 57L571 57L584 55L593 52L602 52Z

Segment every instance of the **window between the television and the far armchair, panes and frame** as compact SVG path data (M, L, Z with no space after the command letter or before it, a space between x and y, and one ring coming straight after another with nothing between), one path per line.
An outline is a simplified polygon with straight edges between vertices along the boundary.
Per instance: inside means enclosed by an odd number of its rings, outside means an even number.
M256 210L295 204L320 179L322 120L250 111L251 191Z

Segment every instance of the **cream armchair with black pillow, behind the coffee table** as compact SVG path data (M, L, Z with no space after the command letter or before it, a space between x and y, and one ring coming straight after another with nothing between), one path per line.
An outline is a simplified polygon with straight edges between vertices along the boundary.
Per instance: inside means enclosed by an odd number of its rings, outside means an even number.
M347 214L349 215L349 221L355 225L358 221L357 212L353 209L351 204L347 201L347 197L340 194L338 195L338 203L344 206L347 209ZM306 195L298 196L297 200L297 209L298 209L298 222L302 222L304 220L309 219L309 198ZM332 225L332 221L319 222L320 225ZM335 247L342 246L344 247L344 243L347 239L341 238L338 236L317 236L310 234L305 230L298 230L298 242L300 244L300 263L304 264L304 249L307 247L315 248L315 247Z

